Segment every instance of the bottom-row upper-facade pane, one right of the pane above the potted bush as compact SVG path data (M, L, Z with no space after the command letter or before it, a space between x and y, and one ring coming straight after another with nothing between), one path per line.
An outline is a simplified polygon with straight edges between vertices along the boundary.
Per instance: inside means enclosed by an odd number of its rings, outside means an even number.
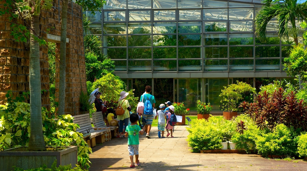
M256 70L280 70L280 59L256 59Z

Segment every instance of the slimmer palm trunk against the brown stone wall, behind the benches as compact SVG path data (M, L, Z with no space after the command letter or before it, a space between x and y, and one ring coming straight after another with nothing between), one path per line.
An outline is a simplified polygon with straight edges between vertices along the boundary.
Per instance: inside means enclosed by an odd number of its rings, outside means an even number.
M60 82L58 115L64 115L65 113L67 9L68 0L64 0L62 6L62 25L60 39Z

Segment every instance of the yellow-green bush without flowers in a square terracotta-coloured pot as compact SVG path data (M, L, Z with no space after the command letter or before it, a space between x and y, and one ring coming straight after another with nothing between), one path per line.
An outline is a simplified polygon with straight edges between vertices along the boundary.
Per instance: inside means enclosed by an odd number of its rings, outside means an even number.
M224 86L219 95L222 98L220 107L224 110L224 118L230 120L237 116L240 112L239 104L243 101L252 102L254 93L255 88L245 82L237 81L236 84Z

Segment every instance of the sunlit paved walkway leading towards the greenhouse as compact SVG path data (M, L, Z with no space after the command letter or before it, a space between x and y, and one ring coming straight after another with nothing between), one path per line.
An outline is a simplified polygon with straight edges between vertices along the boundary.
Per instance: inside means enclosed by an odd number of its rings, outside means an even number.
M112 138L92 148L92 165L89 170L307 170L307 162L302 160L289 162L267 159L256 154L191 153L185 127L175 126L174 138L159 139L157 131L151 131L152 139L140 135L140 165L135 168L130 168L127 139Z

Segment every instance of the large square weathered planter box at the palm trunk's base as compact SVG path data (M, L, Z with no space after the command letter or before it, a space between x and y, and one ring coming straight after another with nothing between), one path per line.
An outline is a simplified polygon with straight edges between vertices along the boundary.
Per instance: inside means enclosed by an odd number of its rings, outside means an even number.
M78 163L77 146L67 146L60 151L10 151L16 148L0 151L0 170L14 170L13 166L25 170L39 168L42 165L51 168L55 160L57 160L57 166L72 164L72 168Z

